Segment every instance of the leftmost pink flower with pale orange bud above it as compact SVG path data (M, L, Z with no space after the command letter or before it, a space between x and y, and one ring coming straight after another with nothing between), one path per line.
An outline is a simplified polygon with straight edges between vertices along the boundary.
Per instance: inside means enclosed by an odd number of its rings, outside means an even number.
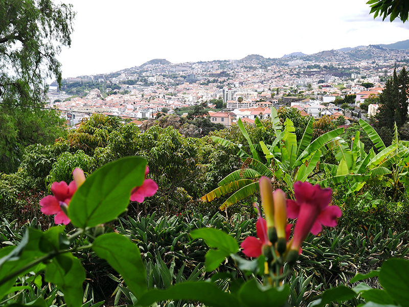
M73 175L74 181L71 181L70 184L66 184L64 181L53 182L51 192L54 196L48 195L40 200L41 212L45 215L55 214L54 222L56 224L67 225L71 222L65 214L65 208L69 206L77 187L85 181L84 172L81 169L76 168Z

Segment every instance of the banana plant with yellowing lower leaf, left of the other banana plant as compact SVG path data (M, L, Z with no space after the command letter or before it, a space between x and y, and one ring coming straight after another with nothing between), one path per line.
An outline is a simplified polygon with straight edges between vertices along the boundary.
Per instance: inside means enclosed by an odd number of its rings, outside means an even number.
M299 180L307 180L315 170L322 155L320 149L344 132L344 128L338 128L321 135L311 142L313 121L314 119L311 117L302 138L298 141L291 120L287 119L285 121L284 130L282 130L277 111L272 107L271 123L276 138L271 145L266 145L263 141L260 141L259 146L266 161L263 163L255 144L252 143L242 122L239 120L239 128L249 144L252 156L243 158L243 166L240 170L234 171L223 178L215 190L202 196L201 199L212 201L233 192L220 206L220 209L223 210L258 192L258 179L261 176L270 177L276 187L292 193L293 183ZM265 129L260 121L256 120L255 124L260 129ZM222 145L229 145L229 141L224 139L213 138L213 140ZM285 185L282 184L282 180L284 180Z

